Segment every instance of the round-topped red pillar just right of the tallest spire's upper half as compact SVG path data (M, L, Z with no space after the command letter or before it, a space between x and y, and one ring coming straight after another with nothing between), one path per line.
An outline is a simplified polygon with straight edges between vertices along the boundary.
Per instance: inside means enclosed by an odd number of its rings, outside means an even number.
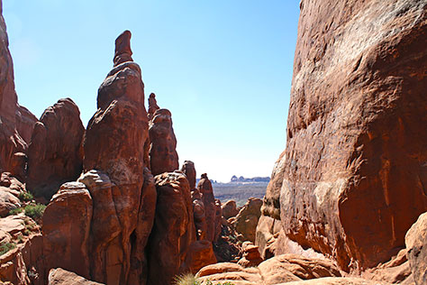
M150 121L150 163L154 176L177 170L177 138L168 109L159 109Z

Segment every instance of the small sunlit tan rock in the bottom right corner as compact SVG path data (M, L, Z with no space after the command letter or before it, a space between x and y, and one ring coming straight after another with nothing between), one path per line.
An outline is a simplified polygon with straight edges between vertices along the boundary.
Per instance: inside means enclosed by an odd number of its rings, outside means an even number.
M422 214L405 236L407 256L416 285L427 284L427 213Z

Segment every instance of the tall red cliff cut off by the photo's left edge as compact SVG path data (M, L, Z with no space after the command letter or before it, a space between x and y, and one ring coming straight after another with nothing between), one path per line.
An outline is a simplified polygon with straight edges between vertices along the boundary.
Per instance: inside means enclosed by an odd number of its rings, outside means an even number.
M18 105L14 90L14 65L0 1L0 172L11 171L15 152L25 152L34 115ZM23 114L24 113L24 114ZM20 135L18 131L22 131Z

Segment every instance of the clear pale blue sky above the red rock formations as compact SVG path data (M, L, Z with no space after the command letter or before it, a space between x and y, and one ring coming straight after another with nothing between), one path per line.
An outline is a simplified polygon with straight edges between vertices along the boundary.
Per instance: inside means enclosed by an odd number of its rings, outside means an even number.
M19 103L95 113L114 40L132 32L146 100L172 112L197 176L269 176L286 146L297 0L3 0ZM146 105L147 106L147 105Z

